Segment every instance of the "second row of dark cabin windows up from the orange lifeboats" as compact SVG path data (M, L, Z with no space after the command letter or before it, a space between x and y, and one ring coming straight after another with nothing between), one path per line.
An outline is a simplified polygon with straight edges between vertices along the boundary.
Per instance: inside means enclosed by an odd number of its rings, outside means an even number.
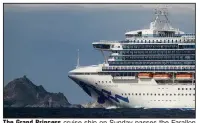
M109 65L121 65L123 61L109 61ZM127 65L195 65L195 61L132 61L126 62Z

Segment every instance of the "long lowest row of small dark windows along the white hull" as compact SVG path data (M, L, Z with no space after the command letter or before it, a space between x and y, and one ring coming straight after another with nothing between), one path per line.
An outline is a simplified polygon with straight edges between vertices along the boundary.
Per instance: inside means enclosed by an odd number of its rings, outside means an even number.
M168 94L168 93L166 93L166 94L153 94L153 93L122 93L122 96L123 95L125 95L125 96L130 96L130 95L135 95L135 96L195 96L195 94L191 94L191 93L189 93L189 94L180 94L180 93L178 93L178 94Z

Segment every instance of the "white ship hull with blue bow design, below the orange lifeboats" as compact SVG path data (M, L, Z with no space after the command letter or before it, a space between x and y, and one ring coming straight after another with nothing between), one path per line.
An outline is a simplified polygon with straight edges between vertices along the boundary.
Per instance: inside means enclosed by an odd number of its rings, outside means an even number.
M195 108L195 85L156 84L149 80L113 80L110 75L71 75L99 103L130 108ZM134 83L137 81L137 83ZM103 94L103 95L101 95Z

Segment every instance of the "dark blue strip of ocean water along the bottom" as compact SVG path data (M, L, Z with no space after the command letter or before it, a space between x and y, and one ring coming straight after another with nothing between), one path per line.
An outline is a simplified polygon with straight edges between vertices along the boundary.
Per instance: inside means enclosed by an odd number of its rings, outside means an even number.
M195 118L195 110L142 108L4 108L4 118Z

